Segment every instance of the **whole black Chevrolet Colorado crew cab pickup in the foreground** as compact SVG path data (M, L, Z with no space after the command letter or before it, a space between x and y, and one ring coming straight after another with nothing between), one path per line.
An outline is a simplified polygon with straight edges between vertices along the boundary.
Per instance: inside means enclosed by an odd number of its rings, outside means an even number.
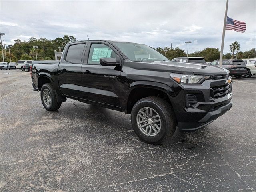
M33 90L48 111L66 98L131 114L150 144L213 122L232 107L228 70L172 62L144 44L109 40L68 43L60 61L33 62Z

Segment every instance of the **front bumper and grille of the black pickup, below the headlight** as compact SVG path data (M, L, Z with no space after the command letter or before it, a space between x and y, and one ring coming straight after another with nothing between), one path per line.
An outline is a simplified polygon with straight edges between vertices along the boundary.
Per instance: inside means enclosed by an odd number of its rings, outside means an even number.
M181 89L170 100L180 132L202 128L230 110L233 82L229 78L179 85Z

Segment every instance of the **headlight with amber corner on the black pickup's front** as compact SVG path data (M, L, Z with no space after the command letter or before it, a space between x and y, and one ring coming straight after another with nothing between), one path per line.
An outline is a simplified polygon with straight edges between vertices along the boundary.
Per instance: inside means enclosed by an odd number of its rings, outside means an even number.
M204 75L190 75L190 74L178 74L171 73L171 78L179 84L201 84L204 80L210 78L210 76Z

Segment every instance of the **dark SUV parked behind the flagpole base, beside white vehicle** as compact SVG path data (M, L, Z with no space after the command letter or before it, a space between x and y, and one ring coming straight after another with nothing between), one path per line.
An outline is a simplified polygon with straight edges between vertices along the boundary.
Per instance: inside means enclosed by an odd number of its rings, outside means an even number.
M211 62L210 65L218 66L219 63L219 60L215 60ZM222 68L229 70L230 75L235 76L238 79L246 74L246 65L243 60L224 59L222 60Z

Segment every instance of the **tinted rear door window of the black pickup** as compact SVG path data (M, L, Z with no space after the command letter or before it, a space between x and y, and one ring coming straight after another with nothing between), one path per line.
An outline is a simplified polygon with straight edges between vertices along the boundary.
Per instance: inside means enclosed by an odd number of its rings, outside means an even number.
M81 64L84 46L85 46L84 43L70 45L68 47L66 61L68 61L70 63Z

